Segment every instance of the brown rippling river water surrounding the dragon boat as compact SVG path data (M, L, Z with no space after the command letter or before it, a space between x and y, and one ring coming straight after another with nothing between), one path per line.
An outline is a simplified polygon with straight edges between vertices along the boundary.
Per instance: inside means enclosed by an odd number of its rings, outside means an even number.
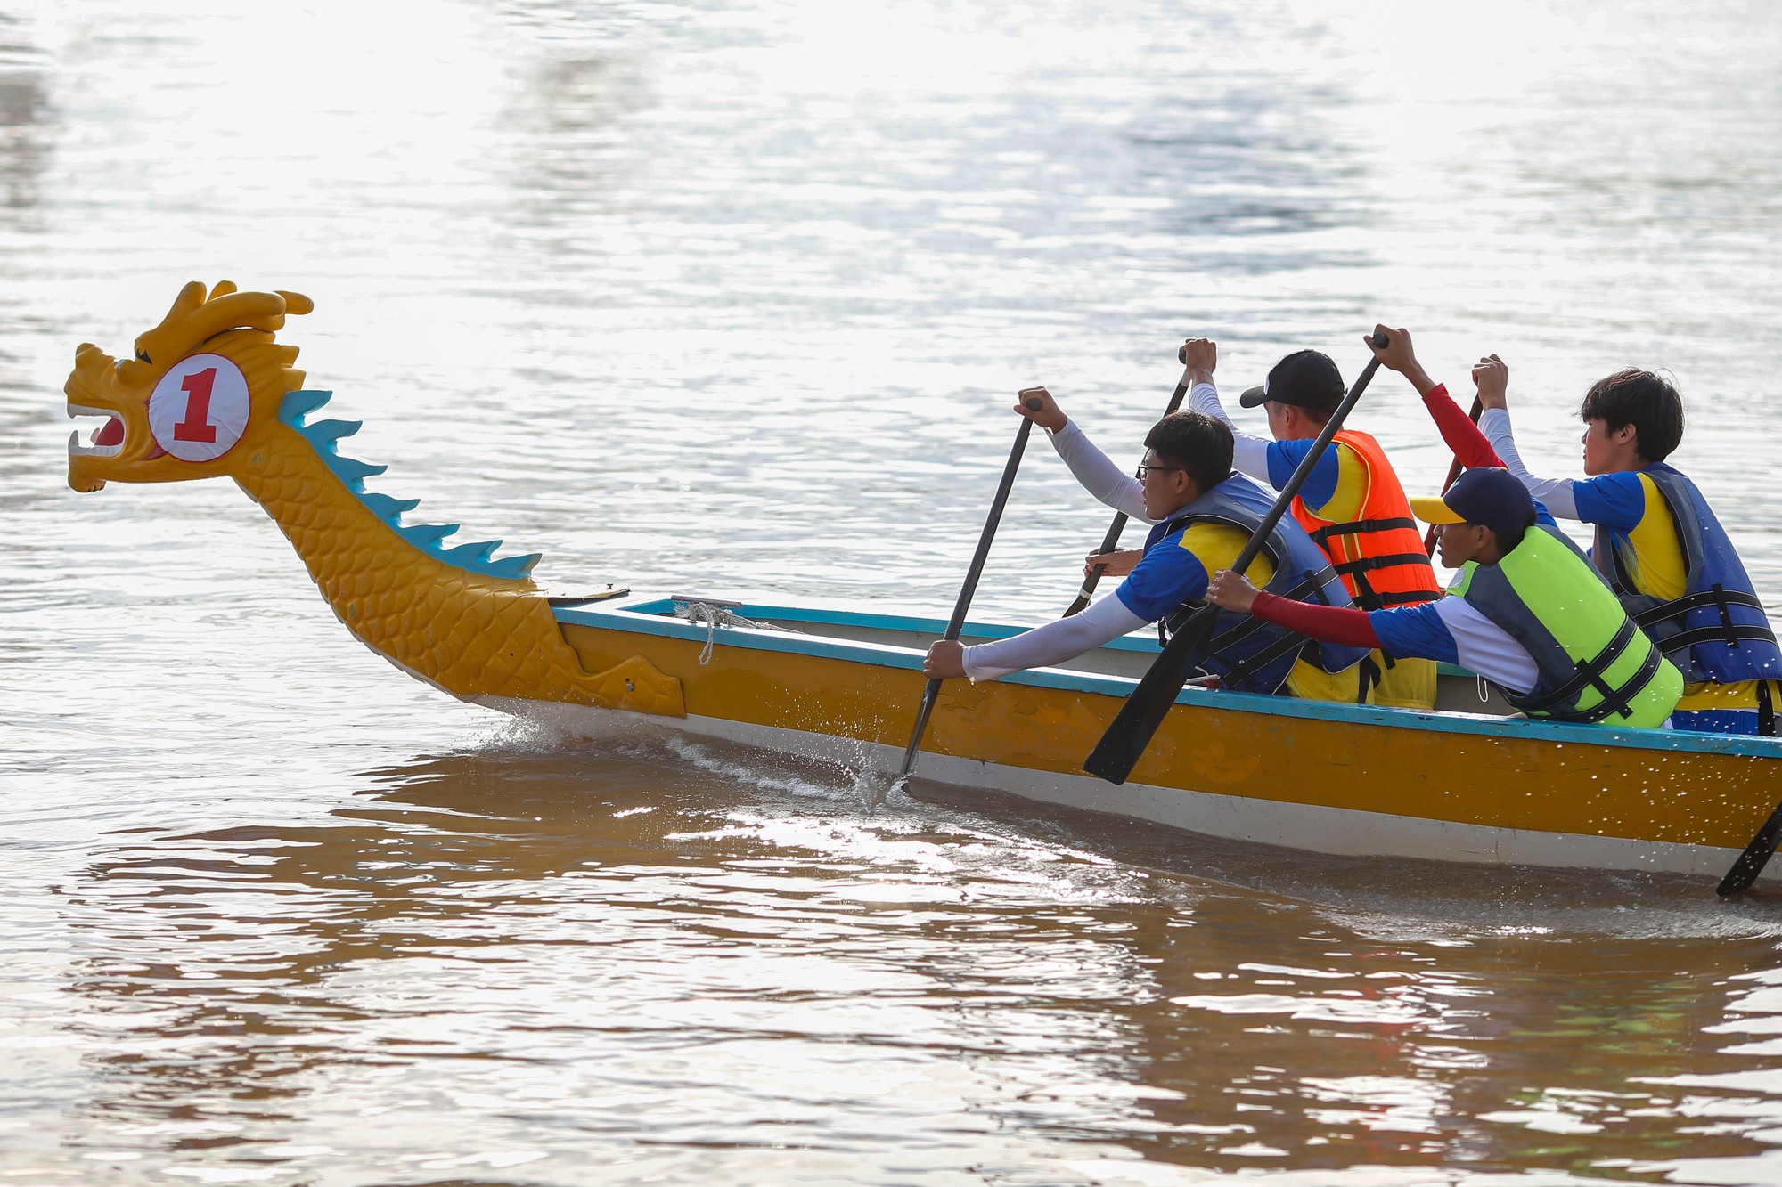
M185 280L567 590L944 613L1044 381L1137 454L1376 319L1524 453L1627 364L1782 592L1768 0L0 2L0 1182L1782 1182L1782 905L659 736L353 642L226 483L64 487ZM1358 412L1408 487L1408 385ZM1256 422L1260 430L1260 421ZM1030 454L978 611L1105 513ZM1308 772L1315 777L1315 772Z

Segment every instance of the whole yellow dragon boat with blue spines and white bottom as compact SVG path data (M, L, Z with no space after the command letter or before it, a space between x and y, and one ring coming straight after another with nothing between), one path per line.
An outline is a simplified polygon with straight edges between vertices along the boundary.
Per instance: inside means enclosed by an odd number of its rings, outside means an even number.
M536 554L446 545L383 472L317 419L298 349L312 303L185 285L132 358L75 353L68 483L233 478L283 529L340 622L462 700L567 731L656 722L813 757L893 766L923 692L928 618L697 594L552 597ZM971 622L964 638L1019 627ZM1720 873L1782 798L1782 741L1508 716L1445 670L1435 711L1185 688L1132 779L1082 761L1157 654L1139 636L1071 665L948 681L920 775L1215 838L1328 854Z

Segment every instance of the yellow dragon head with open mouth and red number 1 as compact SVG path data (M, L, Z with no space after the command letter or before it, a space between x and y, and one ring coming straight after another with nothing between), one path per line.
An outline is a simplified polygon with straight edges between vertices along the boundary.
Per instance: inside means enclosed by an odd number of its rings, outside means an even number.
M87 444L68 440L68 485L178 483L233 474L278 424L287 392L303 387L298 348L273 332L308 314L296 292L237 292L223 282L180 289L160 324L135 340L135 358L91 342L75 349L62 389L68 415L105 417Z

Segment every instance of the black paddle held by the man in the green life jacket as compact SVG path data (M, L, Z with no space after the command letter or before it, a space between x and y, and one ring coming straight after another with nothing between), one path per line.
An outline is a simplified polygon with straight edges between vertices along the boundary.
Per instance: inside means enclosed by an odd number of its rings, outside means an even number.
M1385 348L1386 342L1388 339L1385 333L1374 335L1374 346ZM1294 476L1287 479L1285 487L1281 487L1281 494L1274 499L1274 506L1269 508L1269 513L1263 515L1256 531L1251 533L1244 551L1237 554L1235 561L1231 561L1231 572L1244 572L1249 569L1249 563L1256 560L1256 553L1262 551L1262 542L1269 538L1269 533L1274 531L1274 526L1281 522L1281 515L1285 515L1288 504L1292 504L1294 495L1297 495L1299 488L1306 485L1308 478L1312 478L1312 471L1324 454L1324 449L1328 449L1331 438L1336 437L1344 419L1349 415L1349 410L1354 408L1354 401L1361 397L1361 392L1367 390L1367 385L1372 381L1376 371L1379 371L1379 358L1369 360L1367 367L1361 369L1361 376L1354 381L1354 387L1351 387L1349 394L1344 396L1340 405L1336 405L1336 412L1331 413L1331 419L1324 422L1324 430L1317 435L1317 440L1312 442L1312 449L1306 451L1306 456L1299 460L1297 467L1294 467ZM1108 782L1126 782L1126 775L1130 775L1132 768L1139 765L1139 759L1144 756L1144 749L1151 745L1151 736L1157 733L1157 727L1164 724L1164 715L1169 713L1169 706L1176 702L1176 693L1180 693L1183 684L1187 684L1189 674L1201 659L1206 658L1206 643L1212 640L1214 620L1217 615L1219 608L1212 602L1206 602L1189 615L1189 620L1169 640L1169 645L1164 647L1164 654L1151 663L1151 670L1144 674L1139 686L1130 697L1126 697L1126 704L1123 704L1121 711L1114 716L1114 724L1108 725L1107 733L1101 734L1101 741L1096 743L1096 749L1091 750L1089 757L1083 761L1083 770L1091 775L1099 775Z

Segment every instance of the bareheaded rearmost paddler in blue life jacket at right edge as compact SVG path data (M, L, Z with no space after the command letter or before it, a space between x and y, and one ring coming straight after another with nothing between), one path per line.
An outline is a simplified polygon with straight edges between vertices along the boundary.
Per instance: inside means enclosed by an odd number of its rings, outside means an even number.
M1385 326L1381 326L1385 330ZM1727 529L1700 488L1664 458L1682 440L1682 397L1650 371L1625 369L1584 394L1584 474L1536 478L1509 428L1509 367L1474 367L1483 413L1474 426L1417 364L1404 330L1388 330L1381 364L1424 396L1443 440L1465 463L1504 465L1554 515L1595 524L1590 558L1634 622L1686 681L1677 729L1775 736L1782 651Z

